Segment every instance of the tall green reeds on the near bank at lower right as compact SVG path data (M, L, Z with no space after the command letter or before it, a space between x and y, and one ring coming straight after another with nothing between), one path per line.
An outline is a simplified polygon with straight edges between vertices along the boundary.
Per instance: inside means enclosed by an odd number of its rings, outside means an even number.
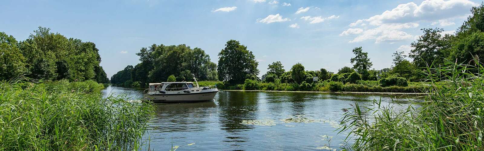
M342 118L347 150L484 150L484 68L447 63L421 74L431 83L418 108L356 104Z

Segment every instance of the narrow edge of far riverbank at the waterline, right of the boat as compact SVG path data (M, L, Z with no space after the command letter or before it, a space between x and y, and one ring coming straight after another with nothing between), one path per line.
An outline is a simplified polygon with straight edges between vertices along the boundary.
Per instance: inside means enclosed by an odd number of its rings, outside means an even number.
M427 93L404 92L330 92L330 91L273 91L273 90L221 90L221 91L256 91L256 92L299 92L299 93L330 93L330 94L384 94L384 95L426 95Z

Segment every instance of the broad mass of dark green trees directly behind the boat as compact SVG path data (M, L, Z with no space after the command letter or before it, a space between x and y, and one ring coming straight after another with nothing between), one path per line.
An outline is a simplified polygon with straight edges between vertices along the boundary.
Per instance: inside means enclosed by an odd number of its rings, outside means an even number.
M147 87L147 83L164 82L169 76L178 81L217 80L217 65L205 51L187 45L151 45L136 55L141 63L128 65L111 77L111 83L123 87Z

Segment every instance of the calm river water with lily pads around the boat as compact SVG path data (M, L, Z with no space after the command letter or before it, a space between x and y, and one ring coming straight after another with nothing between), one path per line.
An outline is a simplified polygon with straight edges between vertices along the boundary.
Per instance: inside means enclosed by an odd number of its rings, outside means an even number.
M133 100L142 97L142 91L113 86L102 93L127 95ZM384 106L404 109L411 103L406 98L220 91L210 102L156 104L156 115L144 137L150 139L149 146L155 151L168 151L172 146L178 146L177 151L306 151L321 150L324 146L339 151L346 133L337 135L335 130L344 114L343 108L355 103L371 107L372 100L381 99Z

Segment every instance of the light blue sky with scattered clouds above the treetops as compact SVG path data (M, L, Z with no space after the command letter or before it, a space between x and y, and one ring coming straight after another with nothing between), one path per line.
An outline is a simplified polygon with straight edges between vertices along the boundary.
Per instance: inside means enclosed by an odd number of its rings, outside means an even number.
M422 28L457 29L473 5L469 0L5 0L0 31L18 41L38 26L91 41L100 49L108 77L139 63L136 52L152 44L200 47L218 61L230 39L240 41L267 65L286 70L337 72L354 47L373 68L392 64L396 50L408 52ZM290 5L289 5L290 4ZM289 5L289 6L288 6Z

